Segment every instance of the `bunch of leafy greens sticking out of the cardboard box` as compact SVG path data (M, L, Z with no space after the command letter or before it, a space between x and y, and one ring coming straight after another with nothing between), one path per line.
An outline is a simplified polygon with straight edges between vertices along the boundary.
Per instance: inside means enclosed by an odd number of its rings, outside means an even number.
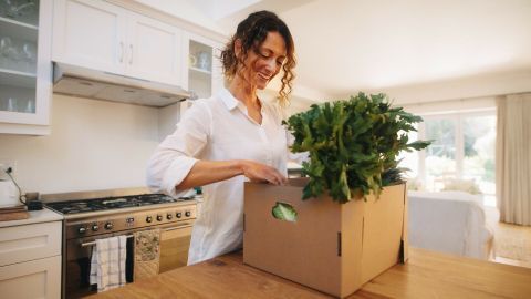
M385 94L362 92L292 115L284 122L295 137L291 150L310 153L310 162L303 163L303 173L310 177L303 199L329 190L334 200L347 203L351 189L379 195L383 186L403 183L399 152L419 151L430 143L408 143L407 133L421 121L392 107Z

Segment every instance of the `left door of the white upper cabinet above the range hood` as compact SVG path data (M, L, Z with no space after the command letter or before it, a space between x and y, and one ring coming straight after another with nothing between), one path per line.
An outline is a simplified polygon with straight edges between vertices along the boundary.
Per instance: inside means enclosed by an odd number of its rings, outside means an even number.
M56 0L53 60L123 74L127 12L101 0Z

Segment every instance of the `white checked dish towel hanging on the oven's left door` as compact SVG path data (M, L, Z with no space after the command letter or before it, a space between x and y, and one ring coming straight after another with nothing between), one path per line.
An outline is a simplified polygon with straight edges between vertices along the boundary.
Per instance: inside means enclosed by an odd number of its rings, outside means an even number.
M97 283L97 292L125 285L127 237L96 239L92 247L91 285Z

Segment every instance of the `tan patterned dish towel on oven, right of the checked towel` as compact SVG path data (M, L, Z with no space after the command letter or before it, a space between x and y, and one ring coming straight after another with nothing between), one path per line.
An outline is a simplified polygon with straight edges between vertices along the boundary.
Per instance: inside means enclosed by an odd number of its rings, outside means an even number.
M158 275L160 260L160 229L135 233L135 278L145 279Z

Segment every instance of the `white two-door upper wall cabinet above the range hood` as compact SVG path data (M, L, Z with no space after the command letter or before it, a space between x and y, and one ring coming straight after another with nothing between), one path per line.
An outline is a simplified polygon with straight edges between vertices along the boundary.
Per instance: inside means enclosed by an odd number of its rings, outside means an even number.
M54 1L52 60L181 85L181 31L101 0Z

